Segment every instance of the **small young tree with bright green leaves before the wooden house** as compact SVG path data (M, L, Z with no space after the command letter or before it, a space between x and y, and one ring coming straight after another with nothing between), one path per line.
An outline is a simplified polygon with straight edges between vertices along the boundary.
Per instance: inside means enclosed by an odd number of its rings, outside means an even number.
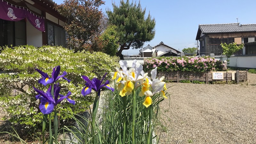
M230 43L230 44L226 44L226 43L221 43L220 46L222 47L222 54L226 55L227 58L230 58L231 55L233 55L235 52L241 50L244 47L244 44L240 44L237 45L236 43ZM227 69L228 69L228 64L229 64L229 60L227 59Z

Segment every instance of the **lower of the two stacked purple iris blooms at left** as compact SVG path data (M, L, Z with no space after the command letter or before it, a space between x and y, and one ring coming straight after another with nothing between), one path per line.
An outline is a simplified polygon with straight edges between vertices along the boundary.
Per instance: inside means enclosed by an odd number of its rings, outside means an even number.
M36 99L40 99L41 101L41 103L39 104L39 109L43 114L50 114L53 111L54 107L58 105L65 98L68 100L69 103L72 103L73 105L75 104L75 100L72 100L70 98L71 92L68 92L66 96L61 95L59 94L60 93L59 84L54 84L54 96L52 96L51 87L52 86L49 87L46 93L33 87L34 90L38 92L38 95L36 95ZM59 96L60 98L58 99Z

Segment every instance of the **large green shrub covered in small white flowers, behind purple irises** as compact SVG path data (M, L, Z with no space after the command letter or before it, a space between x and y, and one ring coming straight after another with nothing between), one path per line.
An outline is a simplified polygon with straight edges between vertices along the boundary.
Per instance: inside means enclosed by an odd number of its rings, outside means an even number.
M0 105L8 114L4 119L13 123L37 126L41 124L43 114L39 110L39 100L32 88L35 86L46 92L46 87L38 84L41 75L35 68L46 72L51 76L52 69L60 65L61 72L66 71L66 77L71 80L60 82L60 94L71 91L71 98L76 101L75 105L68 104L65 100L60 103L58 111L72 113L84 112L92 102L91 96L82 96L84 87L82 75L89 78L101 78L104 74L113 71L118 64L118 57L110 57L102 52L77 52L74 53L63 47L34 46L3 47L0 53ZM108 75L108 79L110 75ZM60 114L60 122L67 121L69 117Z

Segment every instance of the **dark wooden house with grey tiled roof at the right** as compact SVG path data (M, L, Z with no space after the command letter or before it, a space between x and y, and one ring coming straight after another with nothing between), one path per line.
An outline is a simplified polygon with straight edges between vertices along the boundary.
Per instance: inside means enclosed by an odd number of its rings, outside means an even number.
M229 24L205 24L199 25L196 40L200 40L200 55L221 55L222 43L243 44L254 42L256 37L256 24L229 23ZM246 54L246 48L235 53Z

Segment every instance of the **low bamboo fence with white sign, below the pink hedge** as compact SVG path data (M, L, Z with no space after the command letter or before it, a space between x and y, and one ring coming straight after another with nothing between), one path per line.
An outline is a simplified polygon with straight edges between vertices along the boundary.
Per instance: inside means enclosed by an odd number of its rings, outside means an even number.
M150 74L150 72L149 72ZM159 71L158 77L165 77L166 81L177 81L190 80L190 81L201 81L209 83L211 81L236 81L236 83L247 81L247 70L246 71L217 71L217 72L183 72L183 71ZM238 78L237 78L238 77Z

